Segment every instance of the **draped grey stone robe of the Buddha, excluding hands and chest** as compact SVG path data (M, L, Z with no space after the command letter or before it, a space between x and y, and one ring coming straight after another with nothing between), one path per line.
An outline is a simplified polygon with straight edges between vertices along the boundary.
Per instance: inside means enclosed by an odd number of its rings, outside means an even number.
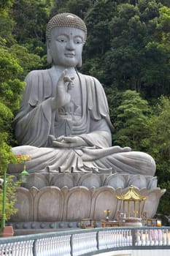
M107 98L96 78L77 73L80 82L81 104L76 100L67 109L52 110L60 73L55 67L34 70L26 77L26 90L15 117L15 137L20 146L14 154L28 154L29 172L93 171L134 173L153 176L155 161L143 152L127 151L112 146L112 124ZM68 110L68 111L67 111ZM55 148L50 136L79 136L87 146Z

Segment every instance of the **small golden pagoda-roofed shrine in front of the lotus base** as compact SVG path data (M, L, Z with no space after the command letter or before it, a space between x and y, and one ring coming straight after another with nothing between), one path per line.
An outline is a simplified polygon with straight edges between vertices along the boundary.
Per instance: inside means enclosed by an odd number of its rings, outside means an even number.
M123 201L123 212L127 213L125 211L125 208L128 206L128 218L129 217L142 217L142 201L146 200L147 197L144 197L142 195L139 195L135 190L134 186L131 185L128 192L126 192L124 195L117 196L118 200ZM133 203L134 207L131 207L131 202Z

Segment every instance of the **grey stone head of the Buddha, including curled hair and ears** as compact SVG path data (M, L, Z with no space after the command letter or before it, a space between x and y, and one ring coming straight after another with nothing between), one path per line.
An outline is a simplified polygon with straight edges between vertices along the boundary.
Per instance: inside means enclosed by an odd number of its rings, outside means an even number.
M87 37L84 21L71 13L55 15L47 23L47 62L62 67L81 67Z

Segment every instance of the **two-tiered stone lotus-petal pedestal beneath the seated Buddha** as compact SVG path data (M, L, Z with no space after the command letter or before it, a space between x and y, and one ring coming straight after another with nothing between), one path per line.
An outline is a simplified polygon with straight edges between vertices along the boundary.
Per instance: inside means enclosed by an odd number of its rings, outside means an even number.
M117 196L127 192L131 185L139 195L147 197L142 202L142 214L147 212L147 218L152 218L165 192L157 187L156 177L119 173L31 173L26 187L17 189L18 213L10 222L73 223L80 219L104 219L106 209L111 211L110 219L115 219L117 211L123 212L123 203ZM133 202L130 208L133 212Z

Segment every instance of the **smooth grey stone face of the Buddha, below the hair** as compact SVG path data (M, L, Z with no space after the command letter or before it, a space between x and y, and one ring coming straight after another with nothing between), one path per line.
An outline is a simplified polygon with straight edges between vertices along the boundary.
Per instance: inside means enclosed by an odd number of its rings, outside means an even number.
M54 28L48 48L53 64L62 67L76 67L82 58L85 33L76 28Z

